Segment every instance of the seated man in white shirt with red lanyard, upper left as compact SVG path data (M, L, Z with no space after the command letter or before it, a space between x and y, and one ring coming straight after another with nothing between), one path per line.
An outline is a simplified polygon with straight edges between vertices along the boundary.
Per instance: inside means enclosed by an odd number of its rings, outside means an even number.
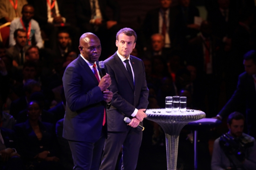
M38 25L38 22L32 19L32 17L34 16L34 7L29 4L26 4L23 6L21 13L22 17L13 20L11 23L9 45L15 45L13 33L16 29L22 28L26 31L26 45L31 45L32 37L35 36L36 45L38 46L38 48L42 48L43 40L41 37L40 27Z

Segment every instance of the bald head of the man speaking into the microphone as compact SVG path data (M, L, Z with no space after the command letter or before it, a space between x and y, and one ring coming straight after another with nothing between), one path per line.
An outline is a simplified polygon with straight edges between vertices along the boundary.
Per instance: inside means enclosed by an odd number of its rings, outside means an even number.
M101 44L99 38L90 32L84 33L80 37L79 51L84 59L94 63L99 60L101 54Z

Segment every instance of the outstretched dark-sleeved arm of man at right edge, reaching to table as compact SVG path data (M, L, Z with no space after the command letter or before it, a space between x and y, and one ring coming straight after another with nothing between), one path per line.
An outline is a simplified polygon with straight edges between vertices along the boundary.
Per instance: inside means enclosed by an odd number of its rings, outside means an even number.
M234 92L230 100L227 102L227 104L218 113L218 115L221 116L222 119L228 116L233 111L236 111L237 106L239 106L241 102L244 102L245 88L247 87L244 79L245 77L243 77L243 75L239 76L236 91Z

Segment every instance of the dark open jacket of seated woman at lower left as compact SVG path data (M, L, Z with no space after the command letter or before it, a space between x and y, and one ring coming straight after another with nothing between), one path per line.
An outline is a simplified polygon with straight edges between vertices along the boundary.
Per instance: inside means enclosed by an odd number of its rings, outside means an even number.
M15 134L17 136L17 152L23 159L33 160L34 157L48 150L50 156L56 156L56 136L55 127L51 123L40 122L39 128L42 133L41 141L38 140L32 129L29 120L15 125Z

